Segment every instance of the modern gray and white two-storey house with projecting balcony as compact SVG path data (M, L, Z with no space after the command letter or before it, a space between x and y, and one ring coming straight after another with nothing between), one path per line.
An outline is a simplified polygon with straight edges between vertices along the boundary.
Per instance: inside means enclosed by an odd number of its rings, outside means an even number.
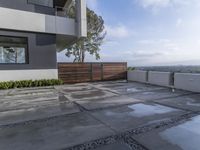
M57 51L85 36L86 0L0 0L0 82L57 79Z

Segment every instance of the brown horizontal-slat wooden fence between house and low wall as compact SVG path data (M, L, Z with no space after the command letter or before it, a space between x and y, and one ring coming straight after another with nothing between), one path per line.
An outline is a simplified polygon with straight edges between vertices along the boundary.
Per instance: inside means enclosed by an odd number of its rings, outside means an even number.
M127 63L58 63L64 83L126 80Z

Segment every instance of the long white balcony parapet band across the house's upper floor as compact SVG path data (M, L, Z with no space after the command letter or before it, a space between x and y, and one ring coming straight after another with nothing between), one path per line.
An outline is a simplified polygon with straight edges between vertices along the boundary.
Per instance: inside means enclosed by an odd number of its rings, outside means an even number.
M5 30L77 36L75 19L66 17L0 7L0 20Z

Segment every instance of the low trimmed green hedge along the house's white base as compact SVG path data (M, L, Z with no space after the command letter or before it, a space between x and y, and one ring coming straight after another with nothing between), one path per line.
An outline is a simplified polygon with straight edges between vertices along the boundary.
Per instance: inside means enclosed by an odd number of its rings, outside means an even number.
M13 89L13 88L26 88L26 87L42 87L62 85L62 80L50 79L50 80L22 80L22 81L8 81L0 82L0 89Z

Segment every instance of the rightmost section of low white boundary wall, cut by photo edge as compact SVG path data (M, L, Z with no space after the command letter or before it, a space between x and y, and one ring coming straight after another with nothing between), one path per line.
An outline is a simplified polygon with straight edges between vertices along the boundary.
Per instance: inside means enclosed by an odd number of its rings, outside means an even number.
M191 92L200 92L200 74L175 73L174 87Z

